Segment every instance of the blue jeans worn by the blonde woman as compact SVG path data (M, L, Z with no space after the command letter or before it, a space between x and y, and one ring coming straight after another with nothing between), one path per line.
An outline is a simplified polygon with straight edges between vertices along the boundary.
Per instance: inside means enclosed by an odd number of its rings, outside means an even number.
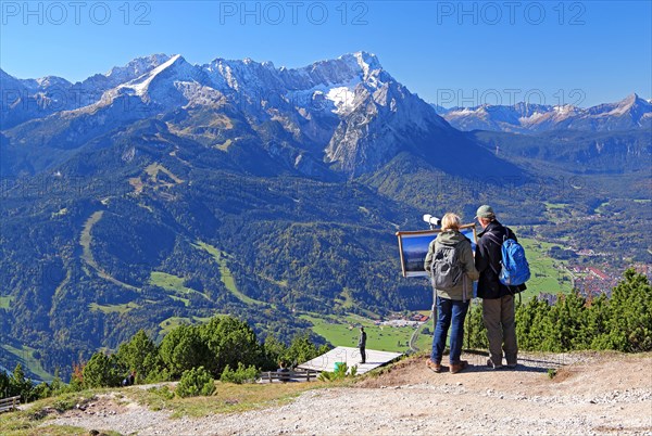
M432 335L432 352L430 360L441 362L443 349L446 348L446 336L449 326L451 329L451 354L450 362L459 363L462 354L462 341L464 338L464 319L468 311L468 300L462 302L437 297L437 326Z

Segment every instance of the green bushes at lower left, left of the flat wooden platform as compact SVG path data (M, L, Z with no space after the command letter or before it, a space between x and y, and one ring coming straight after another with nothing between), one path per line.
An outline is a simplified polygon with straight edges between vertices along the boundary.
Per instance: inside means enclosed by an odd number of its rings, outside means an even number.
M113 387L125 384L130 373L136 383L158 383L202 376L211 380L241 382L260 371L311 360L329 347L317 347L308 334L297 335L289 345L273 335L259 342L253 329L233 317L214 317L205 324L181 324L170 331L160 344L139 330L116 352L95 352L86 362L73 364L68 384L59 375L50 384L35 384L25 377L18 363L10 375L0 372L0 395L21 395L25 401L85 388ZM200 370L201 369L201 370Z

